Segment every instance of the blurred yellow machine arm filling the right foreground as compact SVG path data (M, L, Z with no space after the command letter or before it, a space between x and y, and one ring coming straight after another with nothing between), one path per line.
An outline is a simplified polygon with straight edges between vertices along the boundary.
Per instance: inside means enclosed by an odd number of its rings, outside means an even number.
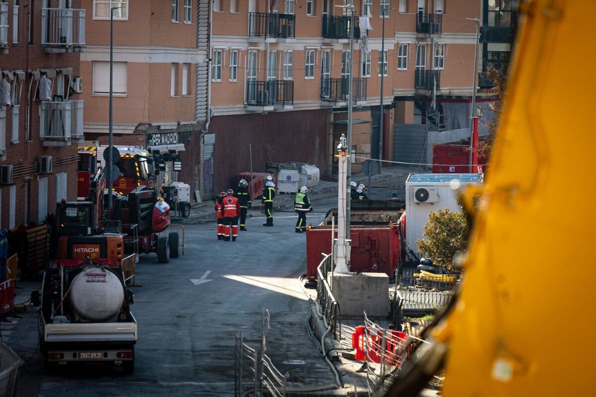
M489 172L464 195L465 279L424 332L432 347L387 395L417 395L440 368L445 397L596 394L594 2L519 11Z

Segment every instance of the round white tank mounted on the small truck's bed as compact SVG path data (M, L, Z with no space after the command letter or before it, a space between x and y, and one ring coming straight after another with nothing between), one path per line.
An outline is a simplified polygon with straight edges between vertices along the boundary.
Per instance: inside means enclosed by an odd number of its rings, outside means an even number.
M116 274L89 267L72 282L70 304L81 318L105 321L118 313L124 301L124 287Z

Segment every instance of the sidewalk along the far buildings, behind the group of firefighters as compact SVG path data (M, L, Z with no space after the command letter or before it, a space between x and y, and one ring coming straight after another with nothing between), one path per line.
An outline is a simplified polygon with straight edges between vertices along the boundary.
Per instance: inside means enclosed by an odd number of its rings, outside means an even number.
M410 173L426 173L428 171L417 170L412 167L404 167L398 165L395 167L384 167L382 174L371 176L371 183L377 183L384 180L398 179L405 185L406 177ZM368 176L357 173L352 174L352 180L356 183L364 183L368 185ZM321 180L319 185L316 185L309 190L308 193L311 201L323 198L330 198L337 196L337 182ZM213 210L213 200L206 200L202 206L191 208L190 216L188 218L172 219L172 223L181 224L201 224L201 223L215 223L215 210ZM278 193L275 196L274 210L288 210L294 208L294 194L292 193ZM257 198L253 201L252 210L249 211L248 217L254 216L254 210L260 209L260 200ZM253 214L251 214L253 212ZM257 215L258 216L258 215Z

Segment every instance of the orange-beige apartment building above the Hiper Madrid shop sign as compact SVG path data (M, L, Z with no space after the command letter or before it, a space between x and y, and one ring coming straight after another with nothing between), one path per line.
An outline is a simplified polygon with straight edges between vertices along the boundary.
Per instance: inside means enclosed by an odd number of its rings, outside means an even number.
M89 10L80 59L86 140L108 141L110 8L115 145L177 152L177 179L200 185L207 101L207 0L82 0ZM176 176L175 176L176 178Z

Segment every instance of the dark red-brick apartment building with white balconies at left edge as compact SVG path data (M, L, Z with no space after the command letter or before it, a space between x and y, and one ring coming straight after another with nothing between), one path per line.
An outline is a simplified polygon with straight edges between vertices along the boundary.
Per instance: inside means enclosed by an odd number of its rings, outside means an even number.
M56 201L76 199L87 12L80 3L0 2L2 228L39 224Z

